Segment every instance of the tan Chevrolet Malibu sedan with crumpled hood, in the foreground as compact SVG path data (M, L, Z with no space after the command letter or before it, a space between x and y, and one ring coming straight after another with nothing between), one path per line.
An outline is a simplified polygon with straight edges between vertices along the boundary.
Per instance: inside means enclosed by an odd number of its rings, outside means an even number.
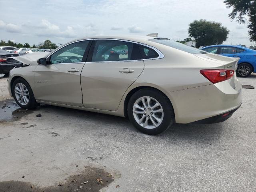
M242 103L238 58L167 38L81 38L15 59L24 65L10 71L8 89L21 108L41 103L129 117L146 134L174 122L222 122Z

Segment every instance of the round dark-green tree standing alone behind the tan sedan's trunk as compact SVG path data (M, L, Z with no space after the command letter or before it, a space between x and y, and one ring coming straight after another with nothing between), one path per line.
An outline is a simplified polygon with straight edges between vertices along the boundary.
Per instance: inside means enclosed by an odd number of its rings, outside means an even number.
M194 20L189 24L188 34L196 41L196 47L222 44L226 41L229 30L219 22Z

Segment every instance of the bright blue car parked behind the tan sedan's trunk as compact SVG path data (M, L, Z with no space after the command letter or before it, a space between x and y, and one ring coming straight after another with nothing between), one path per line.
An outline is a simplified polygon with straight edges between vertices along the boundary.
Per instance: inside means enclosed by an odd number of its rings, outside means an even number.
M256 50L237 45L211 45L202 50L227 57L240 57L236 70L238 77L247 77L256 72Z

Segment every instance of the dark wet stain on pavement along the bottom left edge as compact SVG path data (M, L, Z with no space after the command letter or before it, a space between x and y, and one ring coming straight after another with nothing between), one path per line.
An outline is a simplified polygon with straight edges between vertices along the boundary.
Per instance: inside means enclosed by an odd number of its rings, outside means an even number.
M0 191L4 192L98 192L114 181L113 174L103 169L86 167L82 173L68 177L65 181L56 180L54 186L34 186L30 182L4 181L0 182ZM26 178L26 175L20 178ZM98 182L97 182L98 180ZM85 183L84 183L85 182Z

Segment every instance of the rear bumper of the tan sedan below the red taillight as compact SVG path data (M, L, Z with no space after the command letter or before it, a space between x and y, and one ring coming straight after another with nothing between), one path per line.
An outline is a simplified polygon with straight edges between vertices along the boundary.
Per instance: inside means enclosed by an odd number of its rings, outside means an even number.
M242 103L242 86L237 82L232 88L228 81L169 92L176 123L191 123L200 120L221 122L229 118ZM222 117L223 114L227 116ZM210 119L212 118L212 119ZM205 121L206 121L205 120Z

